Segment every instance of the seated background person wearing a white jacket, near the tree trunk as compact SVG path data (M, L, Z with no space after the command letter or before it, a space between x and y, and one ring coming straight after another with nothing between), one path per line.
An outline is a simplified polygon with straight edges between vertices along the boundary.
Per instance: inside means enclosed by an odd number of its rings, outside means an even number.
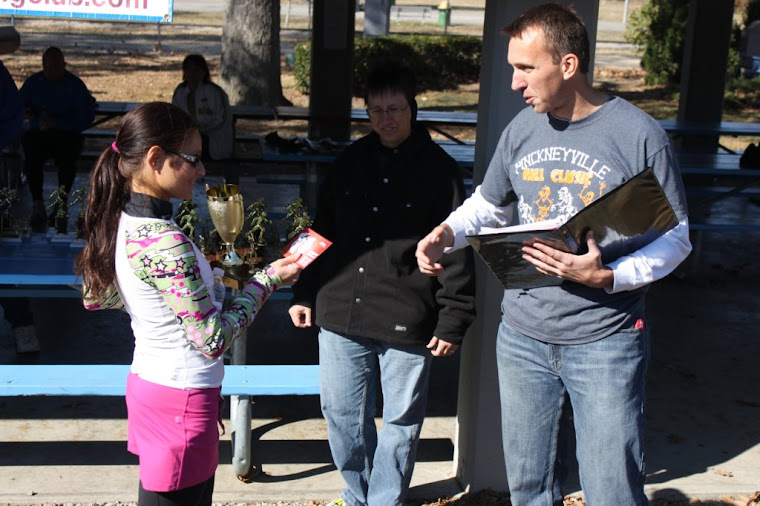
M203 140L203 158L220 160L232 154L235 134L227 93L211 82L206 59L188 55L182 62L182 82L174 90L172 103L198 123Z

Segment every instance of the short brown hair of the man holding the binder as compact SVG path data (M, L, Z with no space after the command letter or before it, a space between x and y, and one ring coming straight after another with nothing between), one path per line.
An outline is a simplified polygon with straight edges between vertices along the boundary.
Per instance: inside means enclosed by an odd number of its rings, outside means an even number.
M581 73L588 74L591 62L588 32L575 9L558 3L537 5L520 14L501 31L509 37L519 37L531 28L540 28L544 32L554 63L572 53L578 57Z

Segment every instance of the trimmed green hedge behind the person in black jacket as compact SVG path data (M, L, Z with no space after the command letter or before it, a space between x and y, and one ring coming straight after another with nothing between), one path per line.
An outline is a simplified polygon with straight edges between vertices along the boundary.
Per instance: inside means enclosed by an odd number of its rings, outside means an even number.
M382 61L402 62L414 69L417 91L453 89L480 79L482 41L478 37L432 35L357 38L354 45L354 96L363 97L367 70ZM311 43L295 47L296 86L309 93Z

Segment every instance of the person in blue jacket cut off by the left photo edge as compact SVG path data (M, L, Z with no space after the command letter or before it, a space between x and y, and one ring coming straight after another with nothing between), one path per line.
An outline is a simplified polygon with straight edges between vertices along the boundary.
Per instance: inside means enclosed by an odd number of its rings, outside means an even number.
M24 103L21 95L13 77L0 62L0 156L3 149L18 138L23 120ZM39 351L40 343L34 331L34 318L29 308L29 299L8 297L1 299L0 304L3 306L5 319L11 324L16 351L18 353Z

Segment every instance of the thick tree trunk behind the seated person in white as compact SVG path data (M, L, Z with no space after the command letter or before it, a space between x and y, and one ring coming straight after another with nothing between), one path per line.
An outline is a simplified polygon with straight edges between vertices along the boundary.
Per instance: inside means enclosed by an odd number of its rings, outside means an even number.
M279 0L227 3L219 84L231 104L289 104L280 82Z

